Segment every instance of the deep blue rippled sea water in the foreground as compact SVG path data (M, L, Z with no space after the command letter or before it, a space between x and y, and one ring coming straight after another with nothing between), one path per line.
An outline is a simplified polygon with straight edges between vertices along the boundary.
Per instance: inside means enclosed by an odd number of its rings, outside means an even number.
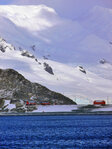
M1 116L0 149L112 149L112 116Z

